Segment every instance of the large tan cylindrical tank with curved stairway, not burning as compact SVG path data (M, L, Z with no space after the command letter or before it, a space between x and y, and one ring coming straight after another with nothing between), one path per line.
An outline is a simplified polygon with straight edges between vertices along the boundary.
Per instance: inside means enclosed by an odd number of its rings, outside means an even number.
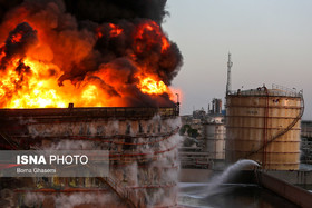
M226 161L252 159L263 169L299 169L303 109L301 92L276 86L230 92Z

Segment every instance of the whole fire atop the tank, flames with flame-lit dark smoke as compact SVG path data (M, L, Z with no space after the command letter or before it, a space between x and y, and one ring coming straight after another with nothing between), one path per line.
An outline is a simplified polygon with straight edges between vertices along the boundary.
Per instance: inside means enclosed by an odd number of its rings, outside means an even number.
M52 24L59 22L20 10L0 28L1 108L173 103L166 70L177 63L170 63L172 43L155 21L57 32Z

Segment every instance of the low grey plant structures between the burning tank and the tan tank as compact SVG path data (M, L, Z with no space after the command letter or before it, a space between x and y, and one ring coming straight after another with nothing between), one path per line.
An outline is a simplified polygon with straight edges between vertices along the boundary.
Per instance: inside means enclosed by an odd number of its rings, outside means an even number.
M185 141L179 148L182 168L224 168L226 129L223 113L222 100L214 98L207 113L201 109L194 110L192 116L182 117L181 131L184 131ZM193 131L196 133L189 133Z

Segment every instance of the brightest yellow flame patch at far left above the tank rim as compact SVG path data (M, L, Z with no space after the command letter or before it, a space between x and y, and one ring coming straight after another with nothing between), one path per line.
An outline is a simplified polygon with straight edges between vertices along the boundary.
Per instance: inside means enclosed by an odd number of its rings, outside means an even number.
M56 90L55 77L47 77L40 79L47 71L49 66L40 62L25 60L25 65L30 67L29 76L20 76L14 70L19 65L19 61L14 60L13 65L1 75L0 81L0 99L7 100L8 93L11 99L3 106L7 108L46 108L58 107L62 108L68 105ZM28 85L18 88L18 83L21 80L27 80ZM17 89L18 88L18 89ZM7 96L7 97L6 97ZM1 103L1 102L0 102Z

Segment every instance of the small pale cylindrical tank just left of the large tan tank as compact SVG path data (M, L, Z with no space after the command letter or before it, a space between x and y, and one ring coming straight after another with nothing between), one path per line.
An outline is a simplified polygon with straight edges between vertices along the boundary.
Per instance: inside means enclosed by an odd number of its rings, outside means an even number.
M204 123L205 151L212 159L225 158L225 123Z

